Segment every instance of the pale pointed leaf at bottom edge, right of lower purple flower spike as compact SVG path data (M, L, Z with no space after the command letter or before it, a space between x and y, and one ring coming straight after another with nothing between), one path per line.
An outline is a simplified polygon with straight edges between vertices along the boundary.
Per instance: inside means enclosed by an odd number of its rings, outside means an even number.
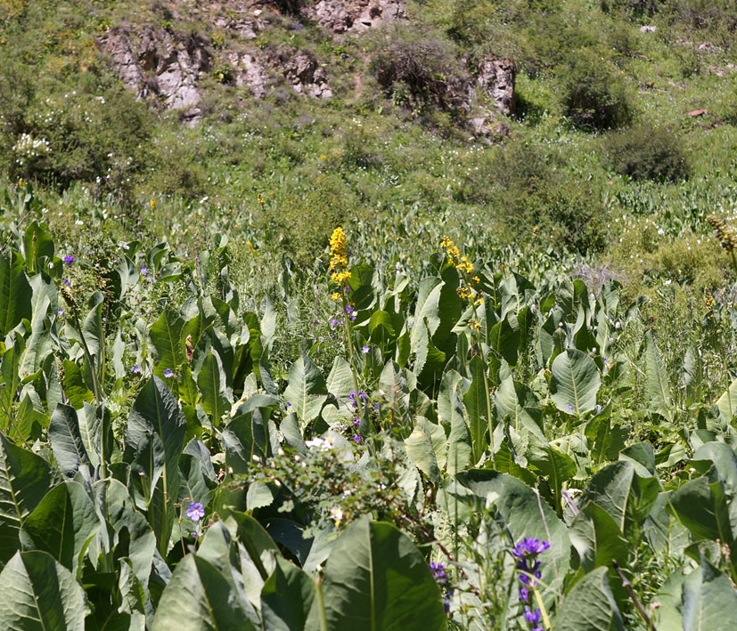
M624 631L625 625L611 594L606 568L597 568L566 595L556 631Z

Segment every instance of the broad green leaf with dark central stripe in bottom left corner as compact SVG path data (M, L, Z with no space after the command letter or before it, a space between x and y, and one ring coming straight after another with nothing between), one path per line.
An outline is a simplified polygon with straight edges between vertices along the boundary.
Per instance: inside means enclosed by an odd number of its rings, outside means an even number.
M0 572L0 627L15 631L82 631L85 593L51 554L18 552Z

